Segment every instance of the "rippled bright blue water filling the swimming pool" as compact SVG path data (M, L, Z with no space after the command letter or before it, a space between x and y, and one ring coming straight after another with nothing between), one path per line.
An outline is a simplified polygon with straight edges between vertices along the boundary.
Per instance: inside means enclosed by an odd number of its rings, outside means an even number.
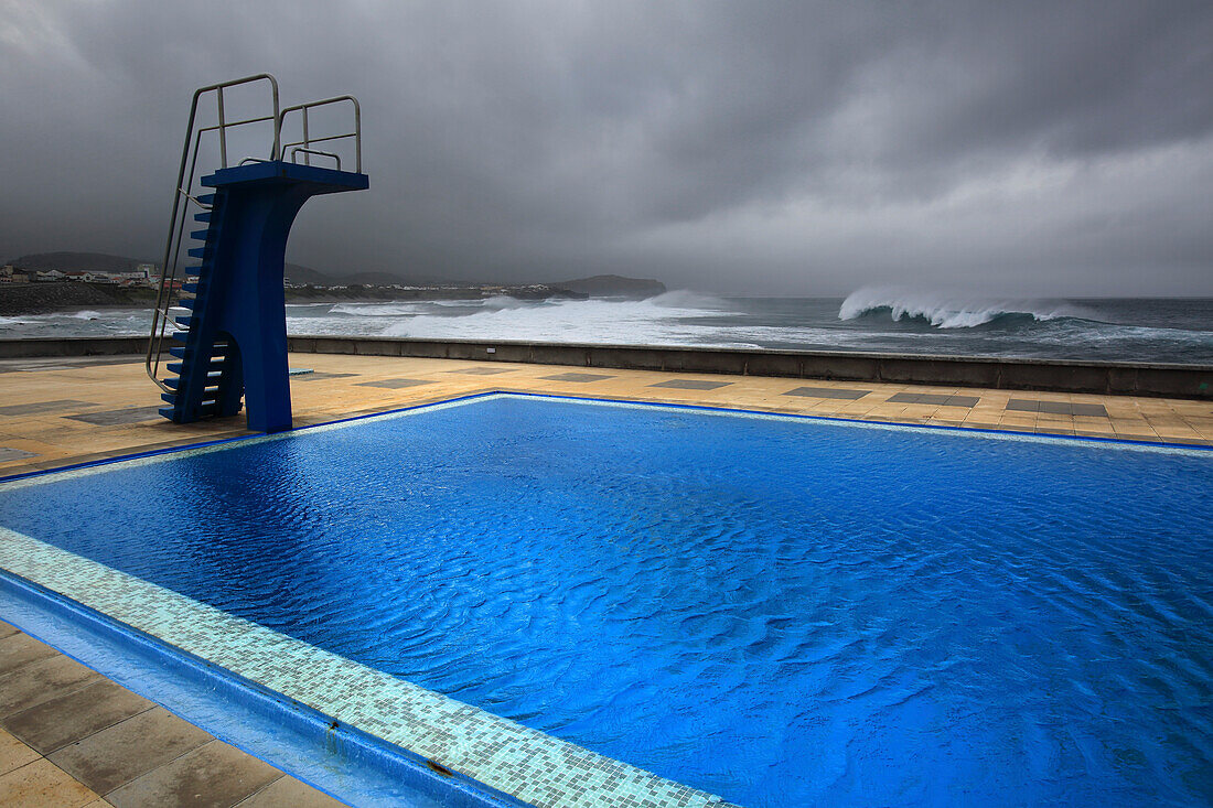
M1213 453L523 397L0 525L746 806L1213 801Z

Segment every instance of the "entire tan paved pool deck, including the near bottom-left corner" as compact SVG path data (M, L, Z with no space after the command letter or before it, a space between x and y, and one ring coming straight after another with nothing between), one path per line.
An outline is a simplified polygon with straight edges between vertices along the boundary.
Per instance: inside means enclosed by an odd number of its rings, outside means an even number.
M1213 445L1201 400L311 353L291 365L313 371L291 379L296 426L505 391ZM250 434L243 415L167 422L133 357L0 360L0 477ZM340 803L0 624L0 804Z

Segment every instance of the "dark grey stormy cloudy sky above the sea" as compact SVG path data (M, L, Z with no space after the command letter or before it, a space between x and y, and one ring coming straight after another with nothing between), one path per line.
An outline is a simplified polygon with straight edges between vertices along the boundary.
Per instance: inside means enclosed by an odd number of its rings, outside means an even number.
M189 96L363 103L289 258L1213 295L1213 2L0 0L0 257L163 249Z

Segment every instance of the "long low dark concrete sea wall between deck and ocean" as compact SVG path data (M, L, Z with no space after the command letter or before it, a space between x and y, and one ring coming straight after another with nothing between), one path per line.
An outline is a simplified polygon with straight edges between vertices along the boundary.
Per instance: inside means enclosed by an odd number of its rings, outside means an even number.
M1213 366L1208 365L397 337L287 340L290 351L296 353L1213 399ZM0 340L0 359L142 354L146 349L147 337Z

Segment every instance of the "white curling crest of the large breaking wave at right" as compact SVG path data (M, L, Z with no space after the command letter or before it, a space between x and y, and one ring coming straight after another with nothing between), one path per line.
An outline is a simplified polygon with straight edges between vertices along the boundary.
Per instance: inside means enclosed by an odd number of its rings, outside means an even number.
M1089 312L1076 306L1043 300L997 300L896 286L869 286L853 291L843 301L838 319L853 320L882 309L889 309L894 320L922 318L940 329L968 329L1007 314L1023 314L1037 322L1090 317Z

